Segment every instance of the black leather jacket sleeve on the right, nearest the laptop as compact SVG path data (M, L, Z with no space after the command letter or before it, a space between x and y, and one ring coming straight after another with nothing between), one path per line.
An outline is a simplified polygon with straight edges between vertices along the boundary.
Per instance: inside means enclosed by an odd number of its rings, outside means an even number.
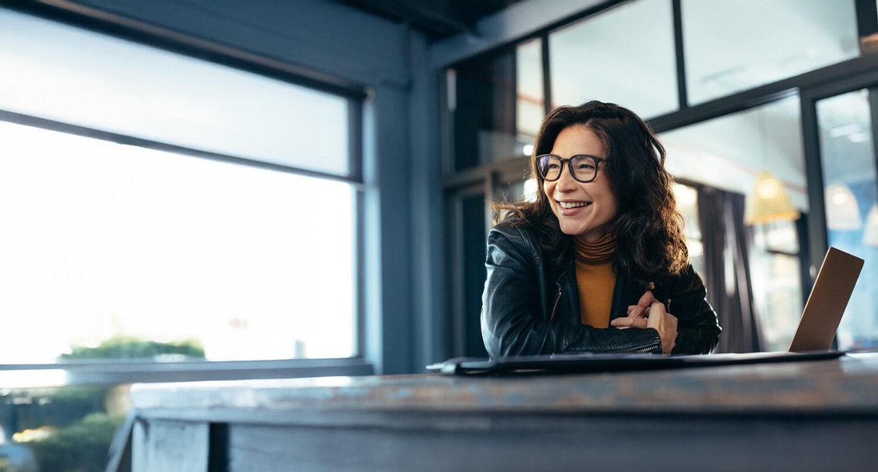
M668 312L677 317L673 354L709 354L722 332L702 278L690 265L673 283Z

